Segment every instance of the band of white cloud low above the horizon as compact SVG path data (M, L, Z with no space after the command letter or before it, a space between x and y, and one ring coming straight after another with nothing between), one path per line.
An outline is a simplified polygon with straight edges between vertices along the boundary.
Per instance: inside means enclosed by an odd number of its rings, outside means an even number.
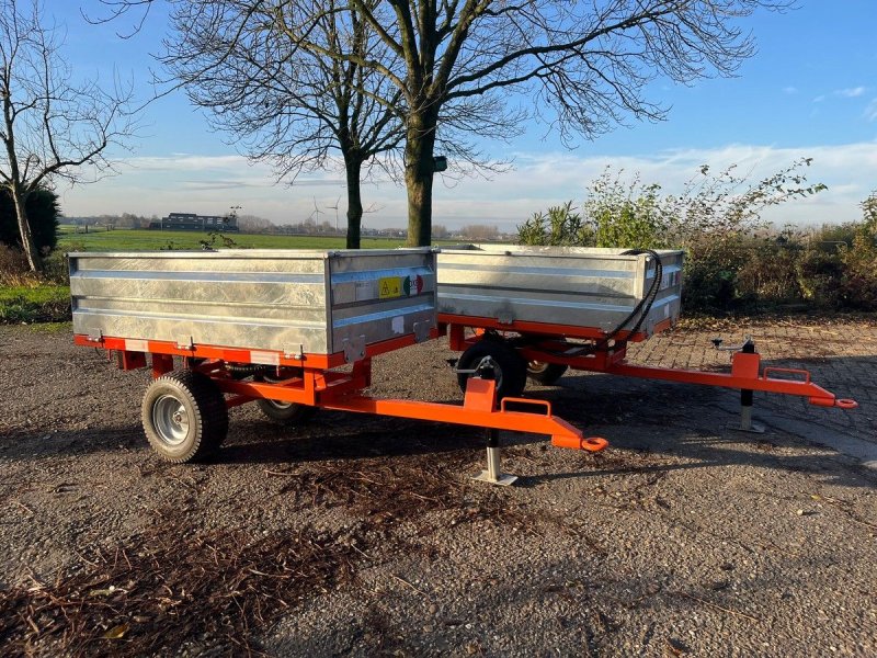
M877 112L877 100L874 103ZM751 180L770 175L799 158L812 158L806 169L811 183L829 186L815 197L771 211L775 224L848 222L861 216L858 204L874 188L877 141L840 146L776 148L733 144L716 149L676 149L641 156L581 156L576 152L516 154L515 168L485 181L436 178L433 222L449 228L465 224L496 224L512 230L533 213L572 200L580 203L589 182L607 166L625 177L638 172L645 183L660 183L668 193L680 192L702 164L714 172L737 164ZM92 185L64 193L68 216L135 213L167 215L170 212L221 214L234 205L241 213L259 215L277 224L300 222L316 207L331 218L341 197L343 222L345 188L337 172L301 175L294 185L276 185L270 168L251 166L240 156L185 156L183 158L134 158L135 167ZM452 163L453 167L453 163ZM369 227L405 226L405 190L386 180L363 185L363 203L376 211L366 214Z

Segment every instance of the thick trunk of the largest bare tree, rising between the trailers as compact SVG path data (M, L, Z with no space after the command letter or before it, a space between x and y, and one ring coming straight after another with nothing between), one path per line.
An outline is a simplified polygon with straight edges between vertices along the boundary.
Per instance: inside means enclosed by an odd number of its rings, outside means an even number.
M408 191L408 246L432 242L433 149L437 116L409 117L405 147L405 184Z

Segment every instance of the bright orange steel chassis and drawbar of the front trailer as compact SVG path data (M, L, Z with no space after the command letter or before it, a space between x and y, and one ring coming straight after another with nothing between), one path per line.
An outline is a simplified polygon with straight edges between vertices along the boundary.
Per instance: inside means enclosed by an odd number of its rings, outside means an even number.
M430 420L487 430L509 430L547 434L559 447L596 452L606 447L600 438L584 438L582 432L556 417L551 405L544 400L505 398L497 405L496 384L491 379L472 378L466 389L463 406L399 399L377 399L362 394L372 382L372 358L391 350L414 344L413 337L403 337L366 347L365 356L353 363L350 372L337 368L346 364L343 353L284 354L264 350L246 350L216 345L179 345L170 341L130 340L114 337L73 336L78 345L102 348L115 352L122 370L147 367L151 356L152 376L159 377L173 370L173 358L179 356L192 367L209 376L219 389L229 395L227 407L236 407L264 398L296 402L358 413L378 413L399 418ZM240 382L231 377L227 363L276 365L295 368L295 375L276 383ZM288 372L288 371L286 371ZM512 410L526 407L531 411Z

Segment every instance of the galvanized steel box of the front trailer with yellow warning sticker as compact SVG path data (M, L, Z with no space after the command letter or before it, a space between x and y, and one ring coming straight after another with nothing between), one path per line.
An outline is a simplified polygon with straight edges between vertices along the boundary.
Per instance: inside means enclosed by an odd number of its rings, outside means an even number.
M429 332L434 261L429 250L73 253L73 331L334 353ZM420 292L381 297L380 281L402 274L420 276Z

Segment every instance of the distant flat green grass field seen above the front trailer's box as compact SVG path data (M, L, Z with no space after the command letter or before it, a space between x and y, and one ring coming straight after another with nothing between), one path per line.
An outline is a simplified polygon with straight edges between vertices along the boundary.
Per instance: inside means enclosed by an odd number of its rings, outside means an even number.
M344 249L343 237L264 236L235 235L232 248L240 249ZM202 240L209 241L206 232L182 230L100 230L99 232L75 232L72 226L61 226L58 249L61 251L156 251L159 249L201 249ZM396 249L401 240L388 238L364 238L363 249ZM224 247L217 239L214 248Z

